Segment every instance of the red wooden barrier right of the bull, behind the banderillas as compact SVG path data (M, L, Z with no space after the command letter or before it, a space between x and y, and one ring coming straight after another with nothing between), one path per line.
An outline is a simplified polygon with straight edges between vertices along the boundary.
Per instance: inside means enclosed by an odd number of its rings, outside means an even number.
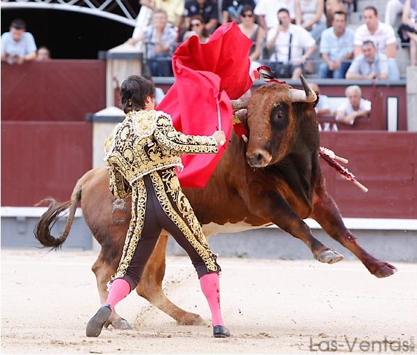
M369 188L362 192L321 161L327 188L343 216L417 218L417 133L339 131L322 133L320 140L349 159L345 166Z

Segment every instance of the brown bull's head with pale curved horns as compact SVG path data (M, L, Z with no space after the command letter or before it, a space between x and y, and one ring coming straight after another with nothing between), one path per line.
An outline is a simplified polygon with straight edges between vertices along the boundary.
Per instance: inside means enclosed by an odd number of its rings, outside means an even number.
M294 143L294 135L306 126L300 121L310 121L308 130L317 128L310 116L317 96L302 75L301 83L304 90L271 84L257 89L247 103L233 101L233 108L248 109L246 160L252 167L266 167L281 160Z

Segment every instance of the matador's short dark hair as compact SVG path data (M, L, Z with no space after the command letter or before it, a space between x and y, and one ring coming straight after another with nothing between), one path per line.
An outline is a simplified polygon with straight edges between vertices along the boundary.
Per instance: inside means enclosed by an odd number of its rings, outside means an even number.
M134 109L144 109L148 96L155 98L155 86L139 75L130 75L120 87L120 100L125 114Z

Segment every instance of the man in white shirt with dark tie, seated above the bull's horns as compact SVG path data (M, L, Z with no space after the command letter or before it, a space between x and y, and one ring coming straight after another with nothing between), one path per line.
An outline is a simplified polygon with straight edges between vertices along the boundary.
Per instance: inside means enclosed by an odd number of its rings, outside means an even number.
M315 40L308 31L291 23L290 13L285 8L278 10L278 23L268 31L267 48L275 50L269 59L290 64L292 79L298 79L304 63L316 49Z

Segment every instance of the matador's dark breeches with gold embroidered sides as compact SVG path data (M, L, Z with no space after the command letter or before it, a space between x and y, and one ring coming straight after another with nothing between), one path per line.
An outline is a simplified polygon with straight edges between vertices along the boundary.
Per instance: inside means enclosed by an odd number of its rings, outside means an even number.
M138 285L162 229L168 231L191 258L198 278L220 267L200 223L181 190L174 168L151 172L132 186L132 219L120 264L113 275Z

